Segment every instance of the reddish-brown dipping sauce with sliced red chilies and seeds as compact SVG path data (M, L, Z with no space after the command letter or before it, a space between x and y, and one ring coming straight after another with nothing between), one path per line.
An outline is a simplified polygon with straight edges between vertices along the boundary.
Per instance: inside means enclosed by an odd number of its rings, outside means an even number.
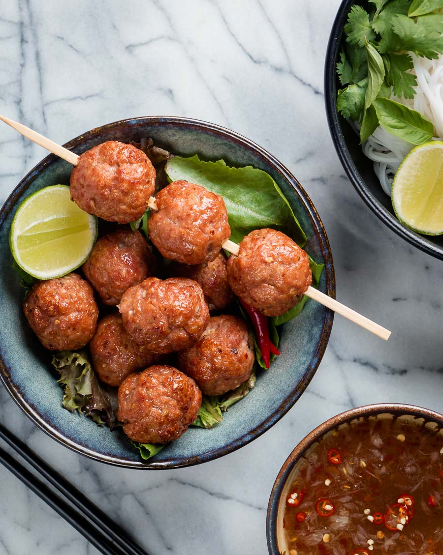
M443 435L422 419L360 418L327 432L285 492L285 555L442 555Z

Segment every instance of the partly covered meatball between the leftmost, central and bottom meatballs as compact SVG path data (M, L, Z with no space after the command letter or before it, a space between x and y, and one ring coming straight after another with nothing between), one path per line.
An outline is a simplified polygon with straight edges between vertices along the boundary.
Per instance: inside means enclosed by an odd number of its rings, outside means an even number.
M111 386L119 386L128 374L146 368L160 358L132 339L118 313L109 314L98 322L89 349L98 377Z

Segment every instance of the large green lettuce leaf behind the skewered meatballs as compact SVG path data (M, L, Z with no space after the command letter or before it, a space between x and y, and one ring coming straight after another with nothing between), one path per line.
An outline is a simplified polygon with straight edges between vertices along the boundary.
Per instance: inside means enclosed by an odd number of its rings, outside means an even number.
M168 160L166 173L172 181L198 183L223 197L231 226L231 240L240 242L253 229L272 228L290 235L300 246L306 235L275 181L252 166L230 168L223 160L203 162L197 155Z

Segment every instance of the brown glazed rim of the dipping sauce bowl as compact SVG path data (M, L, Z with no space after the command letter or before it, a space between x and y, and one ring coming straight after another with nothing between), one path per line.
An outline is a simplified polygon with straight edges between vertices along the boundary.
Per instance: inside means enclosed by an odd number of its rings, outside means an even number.
M403 403L376 403L374 405L351 408L348 411L341 412L339 415L332 416L332 418L329 418L320 424L320 426L317 426L291 451L290 455L283 463L280 472L278 472L274 485L272 486L266 514L266 540L269 555L281 555L277 548L278 503L293 467L303 456L303 453L305 453L313 443L325 435L325 433L334 430L334 428L337 428L341 424L362 416L375 416L383 413L395 416L411 415L416 418L425 418L427 421L434 421L443 426L443 415L439 412L432 411L429 408L419 407L417 405L405 405Z

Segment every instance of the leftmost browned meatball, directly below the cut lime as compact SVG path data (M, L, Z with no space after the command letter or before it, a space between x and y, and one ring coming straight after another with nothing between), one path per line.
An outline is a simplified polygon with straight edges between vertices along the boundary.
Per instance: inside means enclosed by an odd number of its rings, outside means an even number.
M23 310L49 351L80 349L96 331L98 308L94 292L78 274L37 281L24 299Z

